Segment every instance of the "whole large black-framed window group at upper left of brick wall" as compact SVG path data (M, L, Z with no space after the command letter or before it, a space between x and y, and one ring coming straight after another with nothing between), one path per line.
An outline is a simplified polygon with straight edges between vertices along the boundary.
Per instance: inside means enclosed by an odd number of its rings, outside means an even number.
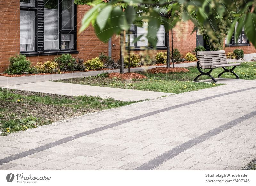
M78 53L73 0L20 0L20 52Z

